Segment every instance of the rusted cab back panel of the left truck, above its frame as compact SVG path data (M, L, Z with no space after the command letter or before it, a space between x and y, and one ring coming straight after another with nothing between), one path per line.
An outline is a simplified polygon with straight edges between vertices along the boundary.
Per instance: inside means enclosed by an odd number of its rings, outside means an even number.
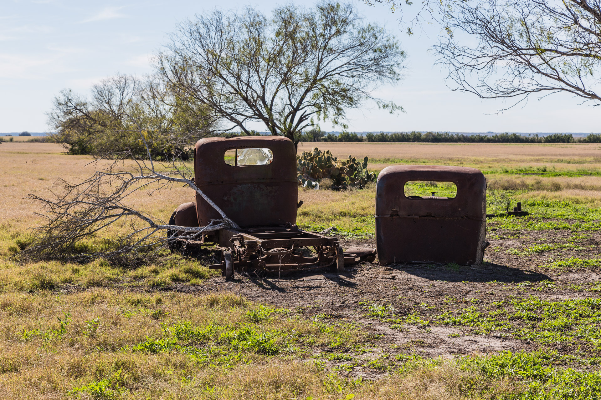
M273 160L267 165L230 166L225 152L231 149L267 148ZM296 224L296 149L281 136L201 139L194 156L195 184L240 227ZM196 199L198 222L207 225L221 216L200 195Z

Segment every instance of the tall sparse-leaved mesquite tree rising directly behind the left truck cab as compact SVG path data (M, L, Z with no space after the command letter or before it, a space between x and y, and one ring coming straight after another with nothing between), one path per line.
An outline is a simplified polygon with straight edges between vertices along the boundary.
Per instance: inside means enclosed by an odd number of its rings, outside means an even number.
M321 2L278 7L270 18L254 8L201 14L179 26L157 67L181 97L228 122L222 131L249 134L248 122L263 122L296 145L320 120L346 127L347 110L367 100L402 110L373 90L400 79L404 57L397 40L352 5Z

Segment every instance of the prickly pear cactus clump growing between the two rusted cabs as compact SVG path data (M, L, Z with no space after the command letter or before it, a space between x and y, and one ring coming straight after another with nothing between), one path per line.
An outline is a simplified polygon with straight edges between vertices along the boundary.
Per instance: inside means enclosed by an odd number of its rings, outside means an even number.
M368 158L362 162L349 155L347 160L338 160L331 151L314 148L313 152L302 152L297 157L299 185L310 188L324 178L331 178L333 189L362 189L368 182L376 180L376 174L367 170Z

